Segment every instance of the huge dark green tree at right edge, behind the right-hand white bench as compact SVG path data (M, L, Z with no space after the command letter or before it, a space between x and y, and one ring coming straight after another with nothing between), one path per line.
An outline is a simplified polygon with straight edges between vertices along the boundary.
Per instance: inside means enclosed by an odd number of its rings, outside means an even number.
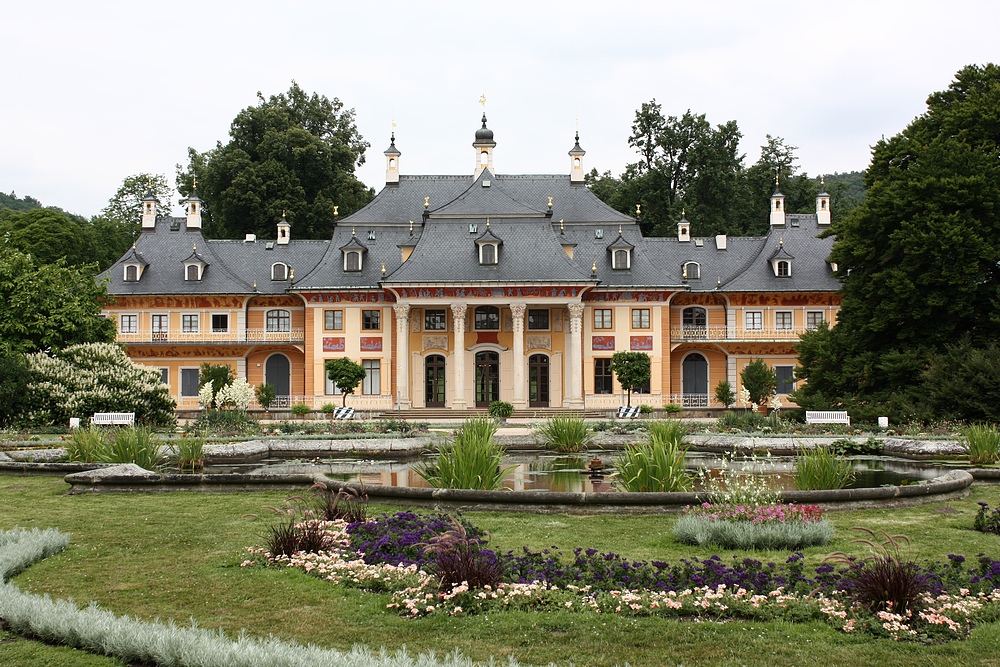
M933 355L963 337L973 348L996 343L998 155L993 64L963 68L930 95L924 114L875 145L864 203L833 225L844 299L828 341L803 339L806 350L826 346L800 358L806 400L821 394L862 417L907 418L907 406L923 400L921 373Z

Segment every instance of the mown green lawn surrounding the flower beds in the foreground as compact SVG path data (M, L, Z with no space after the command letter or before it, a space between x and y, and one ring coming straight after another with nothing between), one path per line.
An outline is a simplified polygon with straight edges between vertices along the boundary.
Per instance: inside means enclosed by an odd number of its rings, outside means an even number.
M354 644L410 651L459 649L479 660L513 655L525 664L567 665L1000 665L1000 624L978 627L967 641L936 646L845 635L822 623L695 623L588 614L491 613L402 619L387 595L340 589L293 570L243 569L245 547L260 543L272 521L267 505L289 494L107 494L67 496L61 478L0 476L0 528L55 527L69 548L15 579L27 591L96 601L119 614L194 618L203 627L346 649ZM862 553L851 526L904 533L911 553L944 559L1000 555L1000 537L970 529L997 487L976 485L964 500L916 508L830 514L834 541L807 550L810 563L831 551ZM373 507L370 513L394 510ZM255 516L253 516L255 515ZM522 545L576 546L630 558L675 561L711 550L674 542L670 516L567 516L474 513L500 550ZM730 558L731 554L720 554ZM755 553L783 561L785 553ZM0 633L2 665L119 665Z

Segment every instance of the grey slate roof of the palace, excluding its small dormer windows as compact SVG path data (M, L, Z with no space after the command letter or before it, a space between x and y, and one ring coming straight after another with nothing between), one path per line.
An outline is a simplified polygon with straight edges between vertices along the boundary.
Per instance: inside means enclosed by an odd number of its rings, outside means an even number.
M482 266L476 241L489 238L487 218L489 237L502 243L497 263ZM815 215L786 214L785 220L766 236L729 237L726 248L720 249L714 237L689 242L644 238L634 218L607 206L586 186L571 183L568 175L512 176L488 169L477 178L402 175L398 184L387 185L363 209L340 219L329 240L293 237L287 245L273 239L209 241L200 230L187 230L185 218L163 217L102 277L112 295L525 282L691 291L837 291L840 285L827 263L833 239L817 238L822 230ZM183 262L195 247L206 264L204 276L185 281ZM344 271L344 252L352 248L364 250L361 271ZM631 252L630 268L612 268L615 248ZM412 249L406 262L404 249ZM779 252L792 263L790 276L774 275L769 260ZM138 282L123 280L122 264L130 261L145 262ZM291 268L294 284L271 280L275 262ZM698 278L694 272L684 278L687 262L700 265Z

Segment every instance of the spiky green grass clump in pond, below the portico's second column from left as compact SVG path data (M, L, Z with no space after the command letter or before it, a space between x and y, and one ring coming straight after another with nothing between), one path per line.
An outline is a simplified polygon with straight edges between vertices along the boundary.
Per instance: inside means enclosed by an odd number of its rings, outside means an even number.
M416 473L435 488L495 491L514 466L501 466L504 449L496 440L496 422L488 417L470 417L455 431L450 443L440 445L437 455L421 462Z

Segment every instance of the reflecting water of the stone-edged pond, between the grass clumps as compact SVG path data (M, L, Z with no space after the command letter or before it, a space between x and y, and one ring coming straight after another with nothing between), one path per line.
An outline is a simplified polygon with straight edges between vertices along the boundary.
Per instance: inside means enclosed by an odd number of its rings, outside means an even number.
M504 466L513 466L505 486L514 491L614 491L615 452L591 451L581 454L553 454L546 451L508 452ZM854 464L855 488L899 485L939 477L951 470L946 466L886 456L849 457ZM790 456L736 457L724 460L718 454L689 452L688 470L704 469L705 474L761 474L772 478L774 488L795 489L795 459ZM369 486L428 487L416 474L413 459L366 460L359 457L317 459L265 459L255 463L217 463L206 473L323 474L330 479L362 482Z

